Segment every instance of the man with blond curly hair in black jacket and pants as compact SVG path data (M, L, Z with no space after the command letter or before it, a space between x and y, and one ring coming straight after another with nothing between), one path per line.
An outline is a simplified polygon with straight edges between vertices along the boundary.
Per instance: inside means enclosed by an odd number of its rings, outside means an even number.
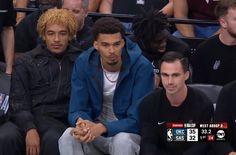
M67 128L71 72L78 55L70 46L78 23L66 9L49 9L38 21L44 44L16 61L10 92L12 120L25 135L27 155L59 155Z

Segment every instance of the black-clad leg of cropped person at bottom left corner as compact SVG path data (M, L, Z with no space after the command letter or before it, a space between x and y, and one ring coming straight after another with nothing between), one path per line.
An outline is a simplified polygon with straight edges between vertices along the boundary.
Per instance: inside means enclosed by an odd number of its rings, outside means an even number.
M24 137L12 122L0 125L0 155L23 155Z

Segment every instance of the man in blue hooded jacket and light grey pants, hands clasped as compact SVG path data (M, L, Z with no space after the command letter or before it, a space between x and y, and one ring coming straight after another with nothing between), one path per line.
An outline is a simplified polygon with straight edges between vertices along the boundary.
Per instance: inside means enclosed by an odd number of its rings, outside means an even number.
M139 153L139 104L154 88L150 62L124 37L122 24L105 17L93 27L94 48L76 61L68 128L61 155Z

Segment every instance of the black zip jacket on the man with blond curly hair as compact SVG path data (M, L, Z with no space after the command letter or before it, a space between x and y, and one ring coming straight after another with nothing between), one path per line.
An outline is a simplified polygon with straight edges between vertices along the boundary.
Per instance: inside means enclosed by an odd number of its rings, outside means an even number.
M36 128L36 115L67 120L71 73L78 54L78 49L68 47L59 59L39 45L15 62L10 109L13 121L25 132Z

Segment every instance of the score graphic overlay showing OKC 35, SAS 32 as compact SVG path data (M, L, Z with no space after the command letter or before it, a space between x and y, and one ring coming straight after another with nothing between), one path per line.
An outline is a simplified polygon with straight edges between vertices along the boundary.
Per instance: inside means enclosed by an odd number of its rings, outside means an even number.
M168 142L226 141L227 123L167 123Z

